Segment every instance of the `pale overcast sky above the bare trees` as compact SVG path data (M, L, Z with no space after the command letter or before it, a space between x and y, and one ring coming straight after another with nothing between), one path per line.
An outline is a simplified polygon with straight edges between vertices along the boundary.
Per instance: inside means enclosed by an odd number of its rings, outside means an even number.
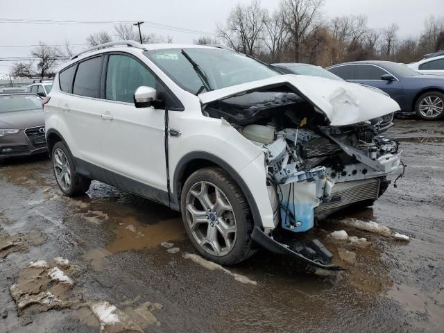
M1 19L50 19L126 21L144 20L196 31L213 33L216 23L225 22L232 6L249 0L0 0ZM278 0L262 0L273 10ZM427 6L425 6L427 3ZM419 35L422 24L430 15L444 15L444 0L325 0L325 17L341 15L368 16L368 26L379 28L393 22L400 26L400 36ZM112 25L50 25L0 23L0 58L28 56L30 47L1 45L30 45L40 40L46 44L85 44L89 33L112 31ZM191 43L196 33L168 31L144 24L144 33L173 37L173 42ZM76 46L75 51L85 46ZM9 62L0 62L0 72L9 71Z

